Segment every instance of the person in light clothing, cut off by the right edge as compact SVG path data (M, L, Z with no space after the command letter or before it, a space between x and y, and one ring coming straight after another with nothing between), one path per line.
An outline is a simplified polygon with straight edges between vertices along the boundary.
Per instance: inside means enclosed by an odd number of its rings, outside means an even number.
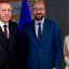
M64 58L66 64L65 69L69 69L69 34L64 40Z

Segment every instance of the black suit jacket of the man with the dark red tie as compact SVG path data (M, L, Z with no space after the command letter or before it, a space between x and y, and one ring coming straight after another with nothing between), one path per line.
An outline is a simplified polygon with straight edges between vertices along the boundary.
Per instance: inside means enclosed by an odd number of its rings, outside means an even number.
M18 69L20 60L17 24L9 22L9 31L10 38L6 40L0 28L0 69Z

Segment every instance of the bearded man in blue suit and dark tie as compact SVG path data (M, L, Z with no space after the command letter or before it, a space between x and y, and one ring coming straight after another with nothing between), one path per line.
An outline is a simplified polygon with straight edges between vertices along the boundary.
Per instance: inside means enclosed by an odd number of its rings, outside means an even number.
M60 30L45 18L43 2L32 8L33 20L24 28L25 69L59 69L63 56Z

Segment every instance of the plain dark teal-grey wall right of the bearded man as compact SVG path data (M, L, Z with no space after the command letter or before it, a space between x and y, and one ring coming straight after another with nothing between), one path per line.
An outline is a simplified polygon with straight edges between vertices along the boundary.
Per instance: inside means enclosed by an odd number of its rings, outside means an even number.
M56 20L63 38L69 33L69 0L47 0L47 17Z

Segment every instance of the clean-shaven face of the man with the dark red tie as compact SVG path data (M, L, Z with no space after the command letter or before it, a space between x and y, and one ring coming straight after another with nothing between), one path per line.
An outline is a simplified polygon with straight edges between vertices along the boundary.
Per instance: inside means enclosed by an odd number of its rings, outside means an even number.
M11 18L12 8L9 3L0 3L0 20L6 23Z

